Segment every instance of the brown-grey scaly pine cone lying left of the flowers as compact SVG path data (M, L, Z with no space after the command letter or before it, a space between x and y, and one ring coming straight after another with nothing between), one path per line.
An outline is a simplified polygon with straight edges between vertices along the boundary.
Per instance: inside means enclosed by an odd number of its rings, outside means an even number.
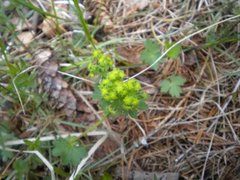
M74 116L77 110L77 98L58 72L59 64L53 50L38 49L33 55L33 64L37 65L39 92L48 95L48 105L68 117Z

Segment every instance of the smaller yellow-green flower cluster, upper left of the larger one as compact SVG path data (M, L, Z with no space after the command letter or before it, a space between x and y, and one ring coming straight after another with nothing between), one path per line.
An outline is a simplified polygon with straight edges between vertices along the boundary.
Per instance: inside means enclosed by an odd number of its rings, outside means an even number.
M104 76L113 66L113 60L103 54L100 50L95 50L92 55L93 63L88 65L89 75L94 77L95 75Z

